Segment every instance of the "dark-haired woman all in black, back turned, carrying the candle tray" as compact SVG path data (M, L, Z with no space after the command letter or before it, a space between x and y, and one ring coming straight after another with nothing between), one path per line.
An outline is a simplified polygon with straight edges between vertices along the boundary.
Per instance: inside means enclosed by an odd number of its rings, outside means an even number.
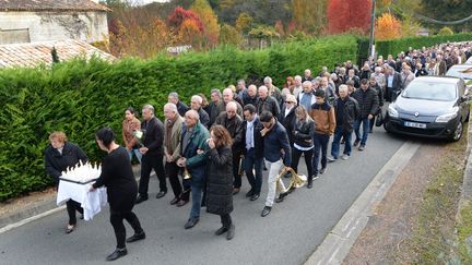
M132 212L138 195L138 184L134 180L128 152L125 147L115 143L115 133L109 128L101 129L95 140L101 149L108 153L102 165L102 174L91 186L91 191L105 185L107 188L108 203L110 206L110 222L117 240L116 250L107 256L107 261L115 261L128 251L125 245L126 229L122 222L126 219L134 229L134 234L126 242L134 242L145 238L141 224Z

